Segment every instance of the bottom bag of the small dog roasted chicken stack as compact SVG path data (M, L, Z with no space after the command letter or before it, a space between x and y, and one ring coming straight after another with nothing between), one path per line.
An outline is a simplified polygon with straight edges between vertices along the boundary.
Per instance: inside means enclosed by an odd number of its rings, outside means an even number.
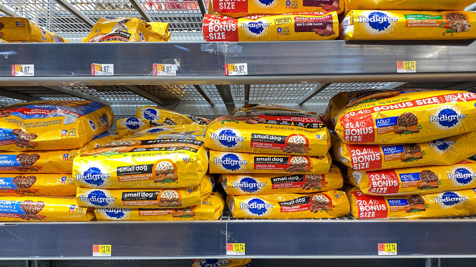
M176 209L96 208L98 221L189 221L218 220L225 208L220 193L212 193L200 204Z

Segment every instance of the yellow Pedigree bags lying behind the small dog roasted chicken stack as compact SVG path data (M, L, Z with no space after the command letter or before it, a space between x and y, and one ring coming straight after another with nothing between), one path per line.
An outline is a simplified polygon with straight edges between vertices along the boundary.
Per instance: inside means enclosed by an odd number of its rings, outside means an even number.
M142 131L147 132L147 130L151 133L161 131L160 129L162 128L156 126L188 124L207 125L208 123L210 123L210 120L208 119L180 114L165 108L143 106L137 108L135 117L119 119L116 126L119 136L125 137Z

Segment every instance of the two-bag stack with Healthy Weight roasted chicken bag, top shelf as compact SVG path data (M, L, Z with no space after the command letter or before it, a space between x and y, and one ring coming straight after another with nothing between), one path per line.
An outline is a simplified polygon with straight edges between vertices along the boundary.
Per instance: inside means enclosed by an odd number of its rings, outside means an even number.
M344 40L475 39L473 0L346 0Z

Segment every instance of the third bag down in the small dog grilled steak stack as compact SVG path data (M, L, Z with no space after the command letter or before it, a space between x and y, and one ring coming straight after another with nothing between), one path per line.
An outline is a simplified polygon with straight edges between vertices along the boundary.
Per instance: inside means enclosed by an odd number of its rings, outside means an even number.
M267 195L339 189L343 178L339 168L332 166L320 175L223 174L220 182L229 195Z

